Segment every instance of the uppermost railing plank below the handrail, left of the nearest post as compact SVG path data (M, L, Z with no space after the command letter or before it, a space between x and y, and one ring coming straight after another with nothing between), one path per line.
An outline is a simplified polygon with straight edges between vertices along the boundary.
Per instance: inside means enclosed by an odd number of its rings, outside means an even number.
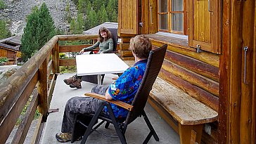
M13 98L12 103L6 100L6 103L4 103L4 105L1 105L0 131L4 131L1 132L1 142L5 143L8 139L11 131L13 130L13 127L17 122L18 117L20 116L20 112L23 110L23 107L25 107L27 100L30 98L31 93L34 90L34 86L36 86L37 84L37 80L38 74L36 73L34 74L34 77L31 79L29 84L27 84L20 97L16 96L15 98ZM2 121L3 119L4 121Z

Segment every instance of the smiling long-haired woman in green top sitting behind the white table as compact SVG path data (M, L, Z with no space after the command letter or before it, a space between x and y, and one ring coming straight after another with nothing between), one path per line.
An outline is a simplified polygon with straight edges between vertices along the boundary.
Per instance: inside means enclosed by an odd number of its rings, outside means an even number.
M100 30L98 30L98 41L93 46L89 46L87 48L83 48L79 54L81 55L85 51L92 51L94 48L99 47L99 51L97 54L103 54L103 53L112 53L113 51L113 39L111 32L105 28L101 27ZM93 63L93 62L92 62ZM89 77L89 76L83 76L83 77ZM81 89L81 81L82 76L77 76L75 74L74 76L64 79L65 84L70 85L70 88L77 88Z

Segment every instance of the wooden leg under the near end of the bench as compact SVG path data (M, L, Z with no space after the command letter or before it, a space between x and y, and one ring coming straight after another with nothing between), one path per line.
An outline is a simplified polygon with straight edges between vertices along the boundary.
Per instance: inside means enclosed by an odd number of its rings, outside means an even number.
M203 132L203 124L181 125L179 124L179 140L181 144L200 144Z

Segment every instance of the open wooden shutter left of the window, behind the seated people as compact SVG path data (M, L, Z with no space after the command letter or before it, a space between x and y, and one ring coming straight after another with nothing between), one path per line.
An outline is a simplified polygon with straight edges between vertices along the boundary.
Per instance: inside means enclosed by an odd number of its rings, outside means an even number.
M118 0L118 31L138 34L138 0Z

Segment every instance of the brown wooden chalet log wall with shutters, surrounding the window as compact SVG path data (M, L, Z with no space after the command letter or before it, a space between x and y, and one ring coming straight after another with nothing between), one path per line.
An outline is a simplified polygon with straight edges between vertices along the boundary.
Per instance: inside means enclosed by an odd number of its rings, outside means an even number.
M219 112L218 122L210 124L211 134L204 132L202 140L255 143L255 0L212 0L210 7L206 0L186 1L187 40L155 34L158 1L118 1L122 58L132 60L129 39L136 34L148 34L154 46L168 44L159 77ZM129 4L136 4L137 15L129 14L127 9L135 8ZM122 30L124 23L130 24L129 33ZM196 53L198 45L200 53ZM250 47L246 70L244 46Z

